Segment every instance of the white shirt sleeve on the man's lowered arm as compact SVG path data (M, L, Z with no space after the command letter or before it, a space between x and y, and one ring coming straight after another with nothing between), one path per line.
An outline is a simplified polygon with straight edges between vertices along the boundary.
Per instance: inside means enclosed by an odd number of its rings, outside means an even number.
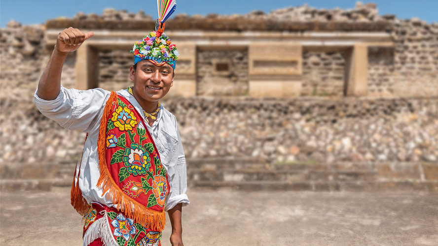
M171 163L169 163L167 175L171 186L170 194L167 197L167 202L164 207L165 211L168 211L175 207L175 205L182 203L183 206L187 206L190 201L185 194L187 190L187 171L185 163L185 155L183 149L183 143L181 142L180 132L178 131L178 146L175 150L174 157Z

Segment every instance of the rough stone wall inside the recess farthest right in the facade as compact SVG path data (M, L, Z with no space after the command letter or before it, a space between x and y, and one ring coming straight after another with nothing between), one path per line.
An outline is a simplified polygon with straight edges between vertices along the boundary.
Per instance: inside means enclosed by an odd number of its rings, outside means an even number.
M345 54L342 51L303 52L303 96L343 96Z

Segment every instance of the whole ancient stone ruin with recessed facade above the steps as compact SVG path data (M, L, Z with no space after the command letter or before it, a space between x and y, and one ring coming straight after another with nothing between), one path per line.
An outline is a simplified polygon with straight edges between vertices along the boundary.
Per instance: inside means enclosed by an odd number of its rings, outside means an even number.
M85 133L62 129L31 102L60 30L96 33L67 58L63 86L119 90L131 83L133 40L154 23L142 11L106 9L1 29L0 162L80 157ZM182 55L163 104L181 125L187 159L437 163L438 24L359 2L177 14L166 26Z

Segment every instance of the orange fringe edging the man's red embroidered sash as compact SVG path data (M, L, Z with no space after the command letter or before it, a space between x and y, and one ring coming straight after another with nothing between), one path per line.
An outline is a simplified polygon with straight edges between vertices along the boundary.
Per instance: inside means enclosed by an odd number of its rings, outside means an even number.
M97 182L97 187L102 188L103 193L106 193L108 191L107 197L110 199L112 203L118 204L119 208L117 209L121 210L126 216L134 219L134 221L142 224L146 228L155 231L161 231L164 229L164 225L166 223L166 215L164 214L164 210L162 212L158 212L155 210L148 209L144 205L140 204L139 202L135 201L131 197L124 194L123 191L120 189L120 187L117 186L117 184L115 184L114 180L111 177L110 171L108 170L106 156L105 156L107 121L109 115L112 112L112 102L114 100L115 101L117 100L117 93L111 92L110 98L108 99L107 104L105 105L104 114L102 116L100 129L99 129L97 148L99 153L100 177ZM80 202L77 202L75 204L77 204L78 206L76 211L79 210L82 212L83 211L82 204L80 204Z

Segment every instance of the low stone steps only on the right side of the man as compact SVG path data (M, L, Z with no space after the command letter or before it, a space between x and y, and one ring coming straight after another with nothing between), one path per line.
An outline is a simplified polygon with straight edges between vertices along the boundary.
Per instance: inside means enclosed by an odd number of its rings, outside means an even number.
M187 161L187 179L189 186L193 187L231 187L254 191L438 191L438 164L269 164L253 158L203 158Z

